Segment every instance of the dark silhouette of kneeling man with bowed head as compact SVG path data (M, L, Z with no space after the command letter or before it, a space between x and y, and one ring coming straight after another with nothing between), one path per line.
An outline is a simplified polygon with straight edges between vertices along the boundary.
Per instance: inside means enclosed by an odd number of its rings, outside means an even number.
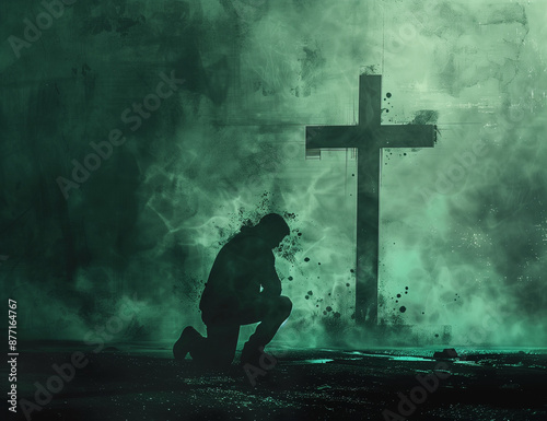
M175 359L183 360L189 352L202 365L228 366L235 355L240 326L260 321L241 356L242 363L257 364L261 348L292 309L291 301L281 295L272 253L289 233L283 218L270 213L257 225L242 227L222 247L199 303L207 338L186 327L173 347Z

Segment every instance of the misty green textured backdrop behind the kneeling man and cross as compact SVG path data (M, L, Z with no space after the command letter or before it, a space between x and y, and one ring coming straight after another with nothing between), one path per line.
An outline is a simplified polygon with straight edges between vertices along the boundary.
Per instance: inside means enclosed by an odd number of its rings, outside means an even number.
M370 344L352 319L356 151L304 147L305 125L354 124L370 72L384 124L431 110L440 130L383 152L379 318L545 344L546 1L79 1L19 59L7 39L43 8L0 8L0 279L24 338L82 340L127 303L117 340L203 331L221 245L279 212L294 309L276 340ZM162 71L185 84L130 132L121 112ZM115 128L128 141L65 200L56 178Z

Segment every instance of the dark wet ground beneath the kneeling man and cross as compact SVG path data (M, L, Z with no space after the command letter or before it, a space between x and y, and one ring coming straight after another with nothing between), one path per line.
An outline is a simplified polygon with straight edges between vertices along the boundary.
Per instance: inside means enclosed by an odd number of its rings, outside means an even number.
M268 352L282 356L253 387L242 367L202 371L190 360L172 360L164 346L118 344L96 353L78 343L27 348L19 356L18 398L33 402L35 382L46 385L53 364L70 361L74 351L89 359L33 420L547 420L547 350L457 349L459 359L434 360L442 348L284 354L274 348ZM439 366L443 361L447 365ZM398 394L409 396L420 386L417 375L435 369L445 377L438 389L409 417L396 414ZM8 419L24 419L18 409ZM384 418L386 409L393 414Z

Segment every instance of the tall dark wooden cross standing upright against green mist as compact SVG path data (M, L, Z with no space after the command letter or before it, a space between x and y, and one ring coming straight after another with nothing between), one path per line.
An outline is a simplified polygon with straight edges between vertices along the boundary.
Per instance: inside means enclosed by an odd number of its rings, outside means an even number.
M432 148L437 140L434 125L383 126L381 94L382 77L362 74L357 126L306 127L306 153L318 149L358 150L356 320L368 326L377 324L381 149Z

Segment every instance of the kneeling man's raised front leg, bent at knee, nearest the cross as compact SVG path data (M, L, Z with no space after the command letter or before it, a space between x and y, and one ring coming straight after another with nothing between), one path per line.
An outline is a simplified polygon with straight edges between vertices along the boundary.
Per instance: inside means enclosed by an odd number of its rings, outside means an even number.
M264 299L256 302L254 309L258 313L256 321L260 320L260 324L243 348L242 362L256 362L260 356L260 348L266 347L274 339L281 324L291 314L292 302L282 295Z

